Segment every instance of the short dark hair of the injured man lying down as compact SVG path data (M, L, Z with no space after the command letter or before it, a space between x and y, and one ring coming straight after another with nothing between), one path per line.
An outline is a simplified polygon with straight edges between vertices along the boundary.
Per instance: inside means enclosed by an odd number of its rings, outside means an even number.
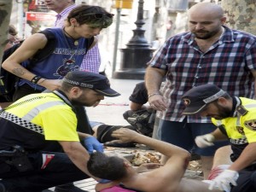
M114 181L127 175L124 162L125 160L118 156L108 156L106 154L96 152L90 154L87 169L90 174L95 177Z

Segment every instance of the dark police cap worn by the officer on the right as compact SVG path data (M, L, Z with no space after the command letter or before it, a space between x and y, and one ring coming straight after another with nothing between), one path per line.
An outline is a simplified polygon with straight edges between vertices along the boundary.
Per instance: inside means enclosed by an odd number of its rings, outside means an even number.
M214 84L202 84L193 87L191 90L187 91L183 96L183 103L185 109L183 114L196 114L200 113L207 104L214 102L220 96L224 96L226 92L218 88Z

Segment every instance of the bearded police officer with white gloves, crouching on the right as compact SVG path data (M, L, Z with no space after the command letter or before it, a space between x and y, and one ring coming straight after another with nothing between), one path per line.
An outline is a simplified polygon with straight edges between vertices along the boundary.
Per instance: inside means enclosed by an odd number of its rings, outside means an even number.
M218 129L195 138L200 148L215 141L229 139L233 163L213 179L209 189L251 192L256 190L256 101L230 96L214 84L202 84L187 91L183 97L183 114L212 117ZM238 174L239 173L239 174ZM231 184L231 185L230 185ZM237 185L237 186L236 186Z

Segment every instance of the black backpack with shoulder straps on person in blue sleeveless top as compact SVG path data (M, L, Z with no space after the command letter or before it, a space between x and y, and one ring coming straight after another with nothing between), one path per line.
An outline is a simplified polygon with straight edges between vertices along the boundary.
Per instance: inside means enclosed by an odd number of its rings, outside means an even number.
M36 63L39 61L43 61L46 59L54 50L56 46L56 39L55 35L52 32L49 32L48 30L44 30L42 32L45 35L45 37L48 39L47 44L44 46L43 49L39 49L38 52L32 56L31 59L29 59L29 65L26 67L27 69L32 68ZM94 38L88 39L88 41L85 41L86 44L84 47L87 50L90 48L90 45L94 42ZM22 44L22 42L20 42ZM13 47L5 50L3 52L3 61L5 61L9 55L12 55L16 49L20 47L20 44L15 44ZM21 63L22 65L22 63ZM15 93L15 85L19 81L19 77L15 76L13 73L9 73L5 69L3 69L2 65L0 67L0 102L13 102L13 95Z

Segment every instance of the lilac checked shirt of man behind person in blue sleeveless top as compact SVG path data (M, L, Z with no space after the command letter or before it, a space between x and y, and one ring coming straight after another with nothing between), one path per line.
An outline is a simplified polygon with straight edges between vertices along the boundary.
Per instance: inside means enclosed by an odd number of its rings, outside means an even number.
M75 4L67 7L66 9L62 10L60 14L56 15L55 26L63 27L64 21L67 19L67 15L69 12L76 8ZM88 50L87 54L84 55L84 59L81 63L80 70L82 71L89 71L91 73L99 73L99 68L101 65L101 55L99 52L98 45L96 44L90 50Z

